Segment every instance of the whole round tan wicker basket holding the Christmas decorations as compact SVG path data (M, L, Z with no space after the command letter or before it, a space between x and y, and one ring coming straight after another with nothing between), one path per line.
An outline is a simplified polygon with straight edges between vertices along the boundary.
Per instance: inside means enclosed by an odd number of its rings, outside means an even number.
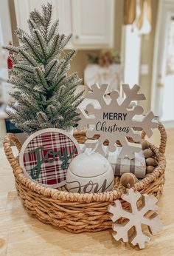
M161 144L159 148L150 144L150 148L155 152L158 166L152 174L147 175L146 178L133 186L133 189L142 193L152 193L157 198L160 197L164 186L166 166L164 152L167 141L167 135L162 124L159 123L158 128L161 134ZM80 143L86 139L84 132L74 136ZM145 138L145 132L142 132L142 138ZM46 188L24 175L18 160L13 155L10 146L11 141L18 151L21 149L21 143L15 135L8 134L4 138L4 151L13 168L18 195L29 214L35 215L44 223L50 223L74 233L97 232L111 228L111 214L108 213L108 205L113 204L125 192L125 188L119 183L119 177L115 178L114 189L111 192L78 194L67 192L65 187L60 189ZM128 203L122 202L122 206L128 208Z

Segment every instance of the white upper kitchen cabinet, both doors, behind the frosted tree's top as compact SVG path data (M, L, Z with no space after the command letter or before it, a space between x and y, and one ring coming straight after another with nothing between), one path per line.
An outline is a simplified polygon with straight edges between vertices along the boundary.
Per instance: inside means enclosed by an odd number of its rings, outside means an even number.
M72 33L66 48L101 49L114 47L114 0L51 0L53 20L59 18L59 32ZM47 0L15 0L18 27L29 32L27 19Z

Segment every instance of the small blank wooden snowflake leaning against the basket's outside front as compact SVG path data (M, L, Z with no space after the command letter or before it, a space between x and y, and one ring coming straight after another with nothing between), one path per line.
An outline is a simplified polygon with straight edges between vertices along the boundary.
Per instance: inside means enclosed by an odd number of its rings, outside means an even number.
M113 237L115 240L122 238L123 242L130 241L133 246L139 245L139 249L145 248L145 243L150 241L150 237L142 232L142 224L148 226L152 235L156 235L161 229L161 221L156 214L158 206L156 206L157 199L153 195L141 195L139 192L133 192L133 189L126 189L127 194L122 194L121 198L124 201L130 203L131 211L122 209L122 204L119 200L115 201L114 206L108 206L108 212L111 212L113 216ZM137 206L137 201L142 197L142 205ZM145 216L147 212L153 211L153 215L149 218ZM125 218L126 220L122 224L115 223L119 218ZM128 237L128 231L134 227L134 232L131 238Z

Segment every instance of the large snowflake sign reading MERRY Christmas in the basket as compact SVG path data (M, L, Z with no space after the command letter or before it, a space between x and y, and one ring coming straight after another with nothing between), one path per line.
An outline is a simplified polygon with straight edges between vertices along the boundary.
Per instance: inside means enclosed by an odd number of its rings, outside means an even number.
M108 139L108 151L114 152L116 149L116 140L122 144L122 150L119 153L119 158L134 158L134 152L141 150L140 144L130 143L128 137L133 138L133 141L141 140L140 132L135 129L143 129L147 136L150 137L153 132L152 128L156 127L153 121L153 112L148 112L142 119L137 120L137 115L143 113L141 106L132 106L133 101L145 100L145 95L139 93L139 86L134 85L130 88L128 84L122 84L122 90L125 94L124 98L119 96L119 92L113 91L110 95L105 96L108 84L102 84L99 87L94 84L91 92L86 94L86 98L95 99L100 104L100 108L89 103L84 110L79 107L80 118L78 130L83 129L86 125L89 128L86 132L88 138L92 138L95 134L100 135L96 152L105 155L102 147L103 142ZM93 115L91 115L93 114Z

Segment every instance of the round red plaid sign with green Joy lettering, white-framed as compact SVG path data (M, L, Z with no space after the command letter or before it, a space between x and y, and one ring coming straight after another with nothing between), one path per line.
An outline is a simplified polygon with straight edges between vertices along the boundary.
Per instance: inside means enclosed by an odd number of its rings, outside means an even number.
M66 170L80 148L62 129L41 129L24 142L19 162L24 174L45 186L66 184Z

